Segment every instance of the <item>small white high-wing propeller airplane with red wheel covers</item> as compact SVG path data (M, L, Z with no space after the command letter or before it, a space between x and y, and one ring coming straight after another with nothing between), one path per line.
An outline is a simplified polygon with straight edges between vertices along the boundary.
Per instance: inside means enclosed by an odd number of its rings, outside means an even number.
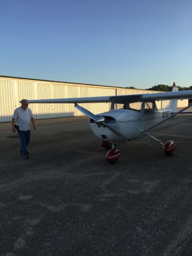
M70 99L45 99L29 100L29 103L74 103L75 107L86 116L90 117L90 126L94 134L101 139L101 146L108 151L106 160L114 164L120 156L116 146L120 142L130 141L147 134L149 137L163 145L167 156L171 156L175 149L175 142L170 140L163 143L156 139L148 130L159 125L180 113L192 113L185 111L189 105L177 111L177 100L191 99L192 90L178 91L178 86L173 83L172 92L131 94L118 96L70 98ZM157 109L155 101L170 100L164 109ZM77 103L111 102L111 108L106 113L94 115L89 110L79 106ZM132 107L140 105L138 109ZM114 109L116 104L122 104L123 108Z

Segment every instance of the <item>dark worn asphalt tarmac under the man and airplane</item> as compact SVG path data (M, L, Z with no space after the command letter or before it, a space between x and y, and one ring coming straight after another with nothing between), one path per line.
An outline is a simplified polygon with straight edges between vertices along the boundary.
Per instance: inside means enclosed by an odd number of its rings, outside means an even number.
M115 165L86 117L37 120L30 158L0 124L1 256L192 255L192 115L120 144Z

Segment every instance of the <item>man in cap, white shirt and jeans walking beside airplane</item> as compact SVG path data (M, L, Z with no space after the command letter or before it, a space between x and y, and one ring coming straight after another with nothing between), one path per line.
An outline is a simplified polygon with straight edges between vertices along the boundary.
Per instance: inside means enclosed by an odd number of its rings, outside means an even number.
M21 142L20 153L25 159L28 159L29 152L27 146L30 141L30 122L33 124L34 130L36 130L36 126L32 111L28 108L28 100L23 99L20 103L21 107L16 108L13 113L12 131L15 133L17 130Z

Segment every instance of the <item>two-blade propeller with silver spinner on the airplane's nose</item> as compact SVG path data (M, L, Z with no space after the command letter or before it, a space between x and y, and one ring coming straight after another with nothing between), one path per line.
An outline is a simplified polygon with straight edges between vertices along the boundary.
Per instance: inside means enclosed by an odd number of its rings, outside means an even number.
M91 119L94 120L95 124L99 125L99 126L106 126L110 131L114 132L115 134L117 134L119 137L123 138L124 140L129 140L129 138L126 137L125 134L123 134L122 132L120 132L119 130L115 129L113 126L109 125L106 123L106 118L104 116L96 116L93 113L91 113L89 110L79 106L77 103L75 103L75 107L81 111L83 114L85 114L86 116L90 117Z

